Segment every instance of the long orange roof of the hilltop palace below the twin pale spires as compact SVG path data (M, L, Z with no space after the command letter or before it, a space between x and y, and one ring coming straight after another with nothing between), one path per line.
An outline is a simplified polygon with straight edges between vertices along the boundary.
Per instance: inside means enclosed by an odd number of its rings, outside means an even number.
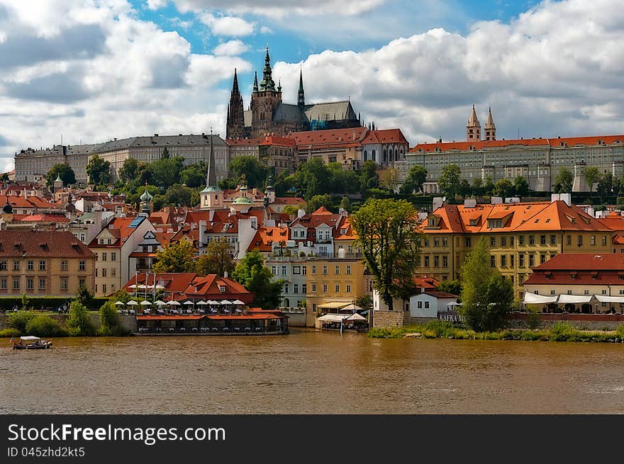
M613 145L624 142L624 135L593 135L590 137L555 137L555 138L533 138L533 139L513 139L513 140L479 140L476 142L434 142L419 143L410 149L410 153L420 152L447 152L457 150L460 152L473 149L488 149L496 147L508 147L511 145L524 146L550 146L550 147L576 147L598 145L598 140L606 145Z

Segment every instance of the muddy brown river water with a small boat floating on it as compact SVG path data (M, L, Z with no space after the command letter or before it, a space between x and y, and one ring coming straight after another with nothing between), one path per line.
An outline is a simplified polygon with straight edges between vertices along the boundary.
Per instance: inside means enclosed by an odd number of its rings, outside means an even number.
M0 343L0 413L624 413L624 344L306 329Z

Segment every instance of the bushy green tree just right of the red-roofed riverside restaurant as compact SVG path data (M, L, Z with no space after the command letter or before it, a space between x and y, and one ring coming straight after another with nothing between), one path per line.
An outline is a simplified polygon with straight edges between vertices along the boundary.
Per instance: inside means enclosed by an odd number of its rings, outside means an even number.
M253 305L264 309L279 306L284 281L271 281L273 274L264 267L264 258L259 251L247 251L245 258L236 265L232 277L253 293Z

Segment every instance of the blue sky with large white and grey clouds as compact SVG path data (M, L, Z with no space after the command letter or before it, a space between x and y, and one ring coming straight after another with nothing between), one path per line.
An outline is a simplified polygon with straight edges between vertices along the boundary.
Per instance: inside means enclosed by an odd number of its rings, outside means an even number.
M623 133L621 0L0 0L0 172L23 148L225 136L269 46L283 101L350 99L410 145Z

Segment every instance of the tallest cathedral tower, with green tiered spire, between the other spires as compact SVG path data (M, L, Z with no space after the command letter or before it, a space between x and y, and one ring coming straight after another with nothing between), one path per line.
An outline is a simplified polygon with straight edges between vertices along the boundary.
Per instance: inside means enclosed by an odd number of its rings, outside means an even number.
M251 96L250 109L252 111L252 137L262 137L273 132L273 116L279 103L282 103L282 87L275 88L272 77L271 58L269 57L269 47L267 55L264 57L264 69L262 70L262 81L256 87Z

